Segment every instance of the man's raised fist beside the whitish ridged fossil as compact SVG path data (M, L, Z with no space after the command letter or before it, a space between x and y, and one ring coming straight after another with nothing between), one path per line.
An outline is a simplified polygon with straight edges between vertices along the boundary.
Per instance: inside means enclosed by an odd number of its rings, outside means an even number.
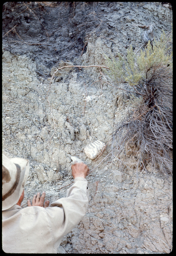
M72 176L73 178L85 178L89 173L89 167L83 163L72 164Z

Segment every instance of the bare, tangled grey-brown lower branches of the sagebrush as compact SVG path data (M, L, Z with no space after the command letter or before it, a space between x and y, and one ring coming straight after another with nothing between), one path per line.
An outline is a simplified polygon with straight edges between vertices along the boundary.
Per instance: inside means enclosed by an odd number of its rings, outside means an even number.
M166 175L172 174L172 70L155 67L144 84L138 106L132 99L133 108L116 128L113 148L117 147L118 156L126 156L129 145L136 145L138 167L146 169L149 163Z

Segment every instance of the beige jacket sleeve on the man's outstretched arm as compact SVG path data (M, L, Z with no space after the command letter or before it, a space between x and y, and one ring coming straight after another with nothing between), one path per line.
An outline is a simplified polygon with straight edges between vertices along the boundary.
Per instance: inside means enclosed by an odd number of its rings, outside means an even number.
M87 180L76 178L67 190L67 197L58 199L46 207L54 243L70 232L84 217L88 207Z

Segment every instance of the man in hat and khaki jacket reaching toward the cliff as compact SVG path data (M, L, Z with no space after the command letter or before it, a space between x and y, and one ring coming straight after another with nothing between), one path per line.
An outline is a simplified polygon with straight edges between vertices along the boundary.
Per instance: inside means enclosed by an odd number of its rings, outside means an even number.
M74 184L67 197L49 205L44 203L45 193L37 193L32 205L21 208L24 185L28 178L29 161L7 158L3 155L3 250L6 253L57 253L62 237L70 232L84 217L88 207L86 164L71 167Z

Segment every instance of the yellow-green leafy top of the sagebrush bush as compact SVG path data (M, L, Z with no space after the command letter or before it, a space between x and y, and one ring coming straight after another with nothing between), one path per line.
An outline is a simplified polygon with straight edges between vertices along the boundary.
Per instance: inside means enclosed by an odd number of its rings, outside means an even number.
M132 46L127 49L126 57L118 53L117 60L108 58L110 76L116 82L126 81L130 85L137 85L143 79L152 76L153 71L161 66L172 68L172 33L168 36L163 31L160 40L154 39L153 45L148 41L147 47L136 55Z

